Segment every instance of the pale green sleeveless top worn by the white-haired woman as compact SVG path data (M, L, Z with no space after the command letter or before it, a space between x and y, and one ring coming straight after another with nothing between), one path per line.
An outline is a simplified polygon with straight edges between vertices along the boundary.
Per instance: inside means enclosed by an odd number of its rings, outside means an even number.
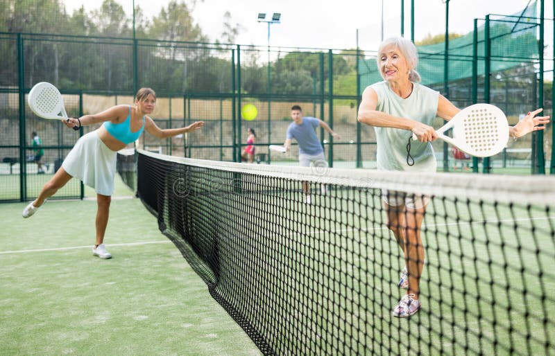
M387 82L378 82L371 87L377 93L376 110L432 126L438 111L438 91L413 83L411 95L403 99L391 91ZM409 166L407 143L412 132L391 127L374 127L374 129L377 140L377 169L436 171L437 162L432 143L411 141L414 165Z

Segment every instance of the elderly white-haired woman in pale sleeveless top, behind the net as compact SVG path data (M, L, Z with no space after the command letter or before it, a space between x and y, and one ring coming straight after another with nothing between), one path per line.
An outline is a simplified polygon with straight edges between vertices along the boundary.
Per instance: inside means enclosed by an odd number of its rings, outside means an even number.
M437 134L432 127L436 116L449 121L460 109L434 91L418 84L416 71L418 53L409 39L386 39L377 55L377 66L384 81L366 87L362 94L358 121L375 127L377 139L377 169L435 172L436 158L432 141ZM529 112L523 121L509 127L509 134L517 139L549 122L549 116L538 116L542 109ZM407 143L413 134L418 142ZM420 229L429 197L395 191L382 191L388 228L393 231L404 253L405 267L398 286L407 288L393 310L394 317L410 317L420 310L418 300L420 276L424 267L424 247Z

